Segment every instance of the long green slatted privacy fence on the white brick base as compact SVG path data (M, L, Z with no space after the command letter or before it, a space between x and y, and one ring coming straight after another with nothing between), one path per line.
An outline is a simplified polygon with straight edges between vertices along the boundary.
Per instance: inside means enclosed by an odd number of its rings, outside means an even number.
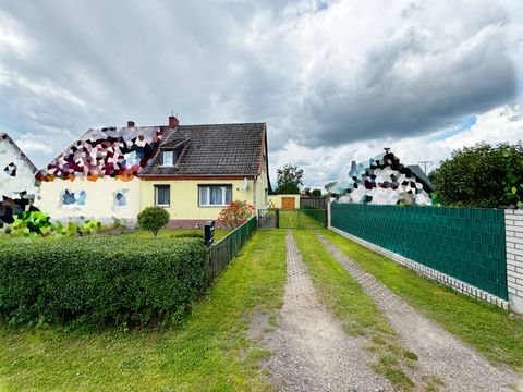
M503 210L333 203L331 225L508 299Z

